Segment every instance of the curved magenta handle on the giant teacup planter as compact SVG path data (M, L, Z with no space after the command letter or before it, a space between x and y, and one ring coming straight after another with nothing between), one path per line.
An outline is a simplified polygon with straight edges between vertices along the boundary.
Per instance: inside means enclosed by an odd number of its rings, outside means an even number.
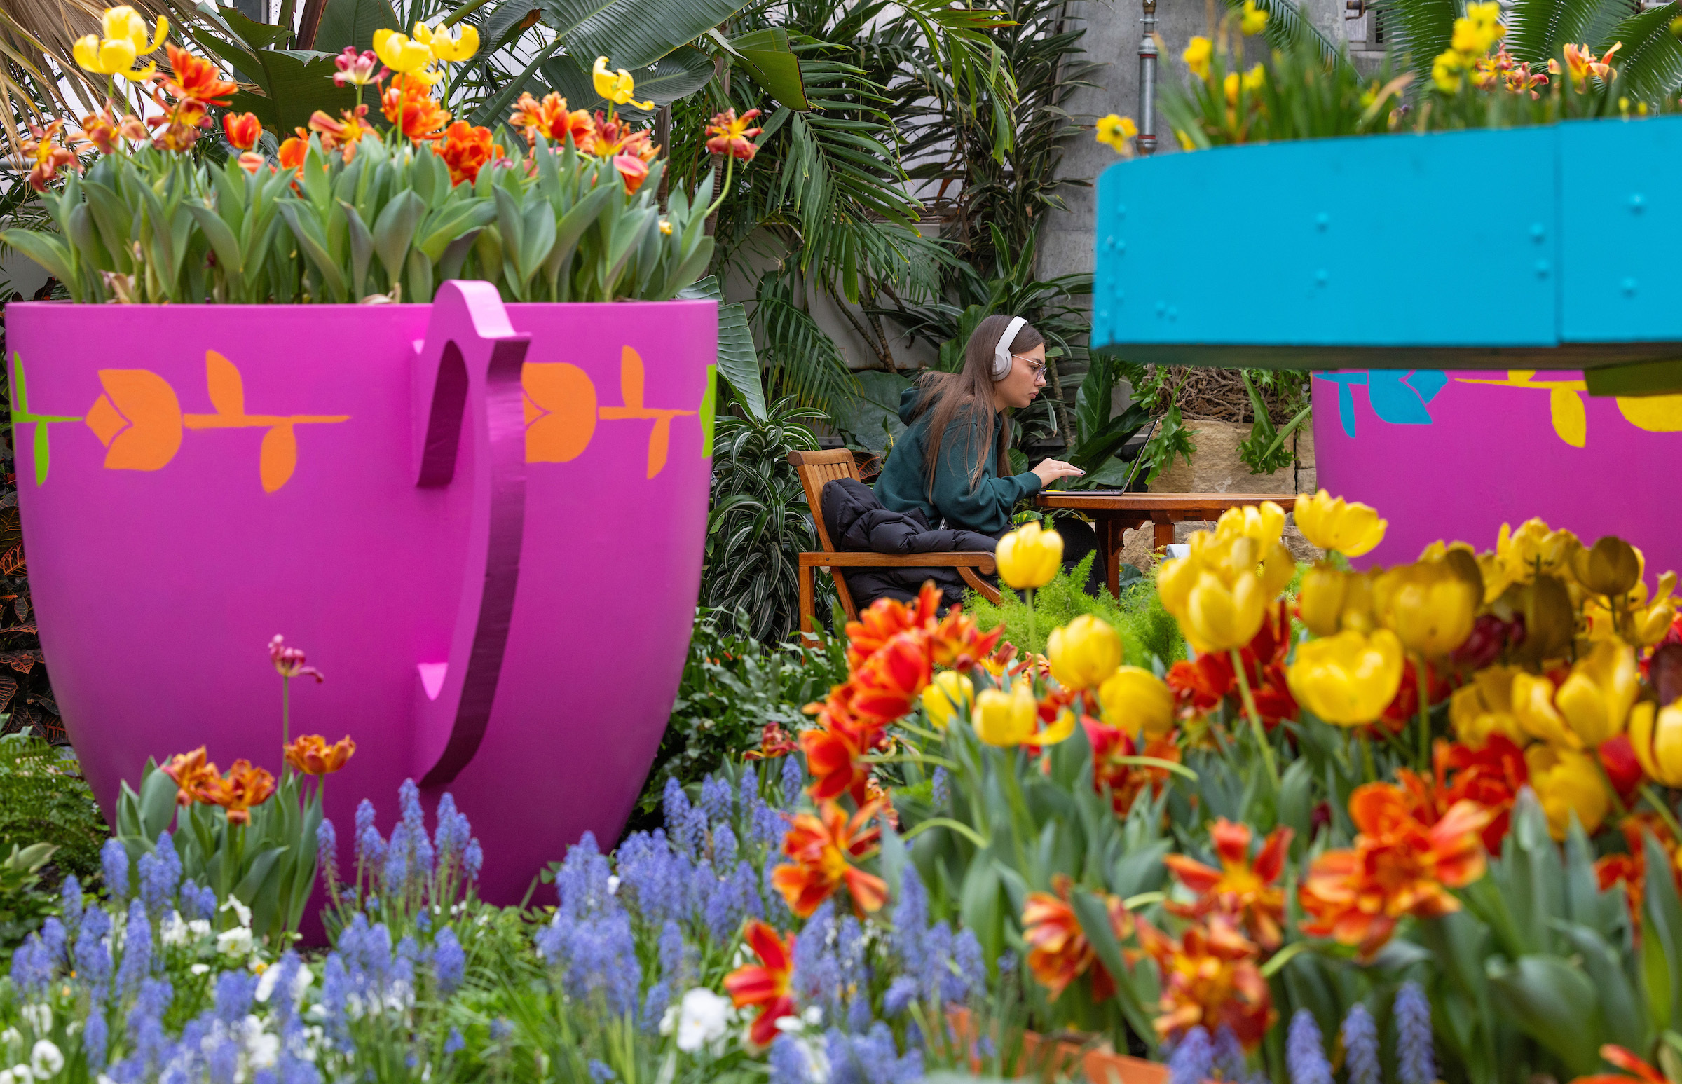
M415 671L414 771L442 787L484 739L520 581L525 529L525 400L532 336L515 333L489 282L444 282L414 360L414 464L420 487L449 486L471 425L473 519L449 657Z

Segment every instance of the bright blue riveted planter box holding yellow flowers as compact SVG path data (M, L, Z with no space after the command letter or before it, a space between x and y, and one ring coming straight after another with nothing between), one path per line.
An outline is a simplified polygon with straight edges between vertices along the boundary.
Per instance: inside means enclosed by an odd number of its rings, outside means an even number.
M1092 343L1134 361L1682 387L1682 118L1304 139L1098 180Z

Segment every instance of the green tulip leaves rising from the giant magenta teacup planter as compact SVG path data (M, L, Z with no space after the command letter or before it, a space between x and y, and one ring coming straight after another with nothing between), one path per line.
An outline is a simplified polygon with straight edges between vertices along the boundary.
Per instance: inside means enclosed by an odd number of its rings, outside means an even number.
M510 301L666 299L705 271L711 178L693 203L673 192L661 215L659 163L629 195L611 161L570 139L505 150L515 168L452 185L442 156L400 136L365 136L348 163L311 136L294 195L289 173L148 146L45 193L59 234L0 239L76 301L431 301L456 277L495 282Z

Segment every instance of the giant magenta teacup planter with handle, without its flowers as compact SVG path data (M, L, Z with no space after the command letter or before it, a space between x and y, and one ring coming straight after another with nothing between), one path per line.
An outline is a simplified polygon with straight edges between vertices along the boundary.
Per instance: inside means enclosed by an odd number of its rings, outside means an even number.
M711 301L7 306L17 471L42 647L109 813L146 756L207 745L281 768L352 734L328 778L350 859L414 776L516 901L612 840L676 694L700 585Z

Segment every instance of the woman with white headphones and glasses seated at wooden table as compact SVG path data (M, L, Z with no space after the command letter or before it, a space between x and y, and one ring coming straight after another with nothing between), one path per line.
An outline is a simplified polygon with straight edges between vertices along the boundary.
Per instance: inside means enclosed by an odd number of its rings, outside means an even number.
M897 513L920 511L935 526L1002 538L1011 513L1060 477L1083 471L1056 459L1026 474L1009 474L1008 410L1034 402L1046 383L1045 338L1021 316L989 316L964 346L957 373L923 373L900 395L905 435L893 445L876 499ZM1058 521L1063 563L1073 566L1097 550L1098 538L1080 519ZM1097 593L1093 561L1087 590Z

